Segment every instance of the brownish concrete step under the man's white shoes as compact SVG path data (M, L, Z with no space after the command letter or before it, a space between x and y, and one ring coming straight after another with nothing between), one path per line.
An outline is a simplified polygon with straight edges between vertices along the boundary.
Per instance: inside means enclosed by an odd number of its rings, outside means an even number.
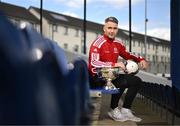
M92 125L130 125L130 126L137 126L137 125L168 125L166 119L161 118L160 113L152 111L152 108L147 105L140 97L136 97L133 105L132 110L135 112L135 115L142 118L141 122L117 122L110 119L107 115L107 112L110 108L110 98L111 95L102 94L101 97L94 99L94 103L96 104L96 118L94 119ZM96 101L96 102L95 102ZM97 103L98 102L98 103ZM123 97L120 100L119 105L123 104ZM97 115L99 114L99 115Z

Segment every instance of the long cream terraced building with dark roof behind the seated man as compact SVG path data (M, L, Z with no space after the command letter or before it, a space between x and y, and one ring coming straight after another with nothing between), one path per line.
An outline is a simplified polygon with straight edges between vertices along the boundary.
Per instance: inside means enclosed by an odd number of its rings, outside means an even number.
M35 16L37 20L40 20L39 8L31 6L27 11ZM42 34L45 37L57 42L57 44L65 50L69 50L78 54L83 53L84 33L82 19L49 10L43 10L42 17ZM10 18L12 18L12 20L16 19L16 17ZM88 56L91 43L96 39L96 37L103 34L103 25L87 21L86 28L87 53L85 55ZM121 40L126 46L126 49L129 50L129 32L127 30L119 29L117 39ZM131 52L133 54L145 56L145 43L143 34L132 32L131 46ZM147 71L154 74L169 74L170 41L153 36L147 36L146 47L146 59L150 63L149 69Z

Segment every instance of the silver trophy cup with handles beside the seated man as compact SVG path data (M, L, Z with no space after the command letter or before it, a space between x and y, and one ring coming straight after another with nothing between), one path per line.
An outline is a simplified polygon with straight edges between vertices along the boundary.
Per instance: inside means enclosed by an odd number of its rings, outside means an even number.
M116 79L116 77L121 73L119 67L102 67L97 68L96 70L98 77L106 80L106 84L104 86L105 90L118 90L111 81Z

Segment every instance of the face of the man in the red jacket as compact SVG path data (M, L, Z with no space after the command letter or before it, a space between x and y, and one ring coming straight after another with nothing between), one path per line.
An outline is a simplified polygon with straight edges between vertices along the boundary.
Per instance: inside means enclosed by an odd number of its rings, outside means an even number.
M105 35L111 39L114 39L118 32L118 24L108 21L105 23L103 30Z

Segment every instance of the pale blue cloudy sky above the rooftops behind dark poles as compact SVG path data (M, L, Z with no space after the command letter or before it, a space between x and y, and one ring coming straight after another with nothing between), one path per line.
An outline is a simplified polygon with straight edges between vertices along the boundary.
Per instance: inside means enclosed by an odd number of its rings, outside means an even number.
M40 0L0 0L28 8L40 7ZM170 40L170 0L131 0L131 30L145 34L145 1L147 35ZM86 19L103 24L108 16L119 20L119 28L129 30L129 0L86 0ZM76 18L84 17L84 0L43 0L46 10Z

